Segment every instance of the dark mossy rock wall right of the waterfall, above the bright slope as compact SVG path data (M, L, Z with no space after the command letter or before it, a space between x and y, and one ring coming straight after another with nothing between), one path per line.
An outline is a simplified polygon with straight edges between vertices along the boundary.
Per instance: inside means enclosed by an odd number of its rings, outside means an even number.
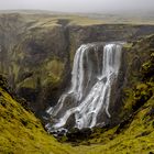
M154 35L142 37L124 50L127 68L121 95L122 112L128 116L153 96Z

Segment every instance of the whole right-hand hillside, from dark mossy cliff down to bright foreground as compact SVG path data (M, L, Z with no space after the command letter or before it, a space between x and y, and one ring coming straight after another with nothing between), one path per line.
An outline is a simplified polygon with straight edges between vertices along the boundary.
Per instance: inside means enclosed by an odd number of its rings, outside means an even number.
M121 123L114 128L74 131L67 141L87 154L154 153L154 35L125 46L129 64L123 88ZM140 58L136 65L135 55ZM131 57L131 58L130 58ZM135 65L134 65L135 63ZM135 67L134 67L135 66ZM128 72L130 72L128 76ZM86 134L87 133L87 134ZM89 146L86 146L86 145Z

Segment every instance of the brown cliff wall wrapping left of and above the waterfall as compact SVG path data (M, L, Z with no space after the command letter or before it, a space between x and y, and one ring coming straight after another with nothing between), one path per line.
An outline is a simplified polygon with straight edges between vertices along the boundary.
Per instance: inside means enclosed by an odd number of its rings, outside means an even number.
M131 41L152 25L75 25L68 19L35 14L0 15L0 73L40 113L69 87L76 50L82 43Z

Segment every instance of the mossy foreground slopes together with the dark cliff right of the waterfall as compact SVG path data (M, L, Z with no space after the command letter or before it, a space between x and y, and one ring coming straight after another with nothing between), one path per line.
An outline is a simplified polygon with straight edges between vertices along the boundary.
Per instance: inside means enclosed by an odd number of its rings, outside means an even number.
M113 128L74 131L62 144L21 106L0 76L0 153L123 154L154 153L154 35L124 47L121 122Z

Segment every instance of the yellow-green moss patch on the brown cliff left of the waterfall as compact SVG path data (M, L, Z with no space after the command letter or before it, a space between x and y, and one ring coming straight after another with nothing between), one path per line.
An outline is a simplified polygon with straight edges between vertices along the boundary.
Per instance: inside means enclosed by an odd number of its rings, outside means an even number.
M30 70L25 68L24 72L28 74ZM19 81L18 88L37 89L38 86L45 87L48 85L54 88L61 85L63 80L64 63L55 57L54 59L47 59L44 64L31 69L31 72L33 75Z

